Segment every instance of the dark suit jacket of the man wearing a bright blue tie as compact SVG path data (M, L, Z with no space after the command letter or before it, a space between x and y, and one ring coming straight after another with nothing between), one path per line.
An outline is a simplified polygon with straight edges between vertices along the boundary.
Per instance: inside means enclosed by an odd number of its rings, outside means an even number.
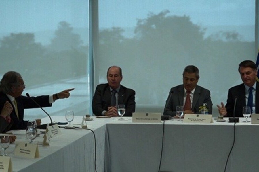
M245 84L234 86L228 90L228 99L226 104L227 117L233 117L235 99L237 103L235 107L235 117L243 117L243 107L245 102ZM259 82L256 83L256 114L259 113Z

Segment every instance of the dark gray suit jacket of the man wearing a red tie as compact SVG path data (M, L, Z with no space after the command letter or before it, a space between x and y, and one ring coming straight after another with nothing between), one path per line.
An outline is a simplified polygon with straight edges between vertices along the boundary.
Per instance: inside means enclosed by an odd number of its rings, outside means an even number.
M170 93L172 93L171 98L170 98ZM165 107L164 115L175 116L176 106L183 106L183 100L184 100L183 84L171 88L169 95L167 97L167 100L165 102L165 105L167 105L167 107ZM167 101L169 101L168 104L167 104ZM191 108L192 111L194 113L199 113L199 110L200 110L199 107L202 106L203 103L207 103L209 114L212 114L212 101L210 99L210 91L197 85L195 88L195 92L193 94L193 103Z

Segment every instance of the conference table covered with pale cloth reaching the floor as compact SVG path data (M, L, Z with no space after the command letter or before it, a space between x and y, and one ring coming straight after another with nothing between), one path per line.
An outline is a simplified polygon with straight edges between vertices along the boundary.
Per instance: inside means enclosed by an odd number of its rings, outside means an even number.
M96 135L97 171L224 171L234 140L234 123L188 124L178 119L161 123L132 123L132 117L87 121ZM259 126L235 124L235 145L226 171L258 171ZM250 119L251 120L251 119ZM43 122L49 122L43 118ZM64 122L64 116L53 121ZM75 116L71 126L80 126L82 117ZM163 130L164 129L164 130ZM95 171L94 137L84 129L60 128L62 134L50 146L38 145L40 157L24 159L14 156L10 146L13 171ZM164 138L163 138L164 131ZM14 134L21 131L14 131ZM23 130L25 133L25 131ZM26 140L18 135L17 140ZM161 158L163 138L163 152ZM42 140L41 136L35 139ZM7 150L8 150L7 149ZM13 149L13 150L12 150Z

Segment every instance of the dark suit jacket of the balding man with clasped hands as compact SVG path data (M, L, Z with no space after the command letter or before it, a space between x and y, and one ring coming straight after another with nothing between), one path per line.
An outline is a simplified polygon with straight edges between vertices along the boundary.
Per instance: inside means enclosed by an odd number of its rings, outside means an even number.
M97 85L92 102L93 113L96 116L101 116L102 111L107 111L108 107L111 106L110 104L111 91L108 83ZM124 104L126 107L126 112L123 116L132 116L136 105L135 91L121 85L118 92L118 104Z

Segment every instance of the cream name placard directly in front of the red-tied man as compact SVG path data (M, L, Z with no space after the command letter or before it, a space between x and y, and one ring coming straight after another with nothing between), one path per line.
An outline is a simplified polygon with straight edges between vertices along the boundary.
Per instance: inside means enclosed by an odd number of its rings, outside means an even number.
M213 120L212 120L212 115L185 114L183 122L186 122L186 123L210 124L210 123L213 122Z

